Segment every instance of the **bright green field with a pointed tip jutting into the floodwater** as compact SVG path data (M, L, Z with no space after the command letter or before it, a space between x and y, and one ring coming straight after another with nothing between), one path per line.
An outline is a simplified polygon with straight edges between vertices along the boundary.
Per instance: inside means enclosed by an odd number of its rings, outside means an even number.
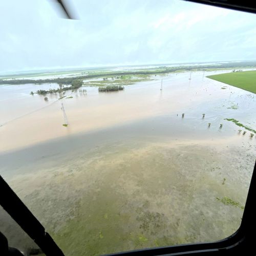
M231 72L207 77L256 93L256 71Z

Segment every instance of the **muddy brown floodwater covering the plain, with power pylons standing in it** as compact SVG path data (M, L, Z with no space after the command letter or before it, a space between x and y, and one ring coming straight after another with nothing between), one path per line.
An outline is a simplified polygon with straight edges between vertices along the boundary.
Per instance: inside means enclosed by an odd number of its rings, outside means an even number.
M0 173L66 255L216 241L238 229L256 136L223 119L255 129L255 95L202 75L48 101L29 93L49 84L0 87Z

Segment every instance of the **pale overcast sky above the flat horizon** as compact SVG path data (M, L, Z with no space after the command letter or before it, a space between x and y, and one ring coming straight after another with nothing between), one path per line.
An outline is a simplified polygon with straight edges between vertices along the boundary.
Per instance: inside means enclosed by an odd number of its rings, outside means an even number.
M56 1L57 2L57 1ZM256 15L182 0L0 1L0 73L256 59Z

